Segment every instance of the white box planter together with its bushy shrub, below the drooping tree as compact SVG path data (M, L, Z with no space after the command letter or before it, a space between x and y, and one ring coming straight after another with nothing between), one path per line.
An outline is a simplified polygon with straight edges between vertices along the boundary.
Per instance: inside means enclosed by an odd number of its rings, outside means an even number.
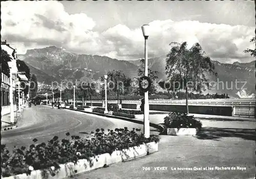
M184 113L169 113L164 118L167 135L196 135L202 128L202 123Z

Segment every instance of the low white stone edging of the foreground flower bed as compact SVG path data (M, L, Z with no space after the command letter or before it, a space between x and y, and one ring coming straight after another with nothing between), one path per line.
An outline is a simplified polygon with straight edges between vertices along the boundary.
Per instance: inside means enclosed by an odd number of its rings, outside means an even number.
M90 163L86 159L78 160L77 165L74 163L66 163L61 164L59 171L56 175L52 176L48 172L49 179L59 179L59 178L67 178L72 175L84 173L87 171L91 171L97 168L102 168L104 165L111 165L117 162L125 162L135 158L139 158L140 156L144 156L147 154L151 154L158 151L158 143L150 142L147 144L142 144L140 146L130 147L129 149L116 150L112 154L104 153L96 156L96 158L90 158L93 162L93 166L90 167ZM51 167L54 170L54 167ZM16 176L4 177L3 179L43 179L44 177L42 170L32 171L30 175L19 174Z

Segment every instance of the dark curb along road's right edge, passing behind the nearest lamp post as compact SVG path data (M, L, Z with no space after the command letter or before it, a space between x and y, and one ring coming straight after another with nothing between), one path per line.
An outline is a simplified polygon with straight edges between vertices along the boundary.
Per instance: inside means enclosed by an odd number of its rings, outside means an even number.
M115 118L115 119L120 119L120 120L124 120L124 121L129 121L129 122L133 122L133 123L137 123L137 124L144 124L143 121L137 121L131 118L125 118L125 117L119 117L119 116L112 116L112 115L104 115L104 114L100 114L100 113L94 113L94 112L89 112L89 111L84 111L84 110L79 110L79 109L71 109L71 108L66 108L69 110L74 110L74 111L80 111L82 113L87 113L87 114L92 114L92 115L98 115L98 116L103 116L103 117L107 117L107 118ZM160 130L160 133L163 132L163 127L154 123L150 123L151 127L155 127L157 129Z

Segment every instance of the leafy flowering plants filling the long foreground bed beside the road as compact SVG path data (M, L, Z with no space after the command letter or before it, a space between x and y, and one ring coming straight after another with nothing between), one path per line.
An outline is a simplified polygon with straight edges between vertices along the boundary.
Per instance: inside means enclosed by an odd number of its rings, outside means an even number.
M124 129L116 128L115 131L108 130L108 132L105 133L104 129L96 129L95 133L91 132L93 138L90 140L81 139L79 136L70 137L70 134L66 133L67 138L62 139L61 142L58 137L55 136L52 140L48 141L47 144L32 144L28 149L24 146L15 148L12 154L2 145L2 176L8 177L23 173L29 175L33 170L40 170L41 172L39 173L42 175L49 173L51 176L55 176L57 174L57 178L60 178L58 171L62 172L61 168L63 168L63 165L61 164L65 164L65 167L68 165L67 163L74 163L73 165L79 164L78 167L81 165L85 170L92 168L94 164L96 165L94 168L103 167L97 164L98 159L96 156L98 156L98 158L100 158L102 154L112 156L118 153L118 150L129 152L129 150L125 149L136 146L141 147L142 144L151 142L159 142L156 136L147 139L144 138L142 133L138 134L138 131L140 131L140 129L135 130L135 128L133 128L133 130L129 131L127 127L125 127ZM36 139L33 141L35 143L37 142ZM83 163L81 163L81 160L83 160ZM104 162L103 160L103 163ZM86 163L87 166L84 166L84 163ZM33 173L35 172L36 171L33 171ZM40 178L43 177L49 178L49 176L42 176Z

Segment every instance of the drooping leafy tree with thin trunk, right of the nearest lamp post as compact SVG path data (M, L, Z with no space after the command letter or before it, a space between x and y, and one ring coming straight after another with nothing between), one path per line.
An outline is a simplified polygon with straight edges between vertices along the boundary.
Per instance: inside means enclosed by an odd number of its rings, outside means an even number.
M171 85L179 84L175 89L185 89L186 104L188 100L188 91L203 92L209 88L209 79L207 74L213 74L215 66L210 58L205 55L199 43L195 43L190 49L187 48L187 42L173 45L166 58L166 75ZM187 114L188 104L187 104Z

